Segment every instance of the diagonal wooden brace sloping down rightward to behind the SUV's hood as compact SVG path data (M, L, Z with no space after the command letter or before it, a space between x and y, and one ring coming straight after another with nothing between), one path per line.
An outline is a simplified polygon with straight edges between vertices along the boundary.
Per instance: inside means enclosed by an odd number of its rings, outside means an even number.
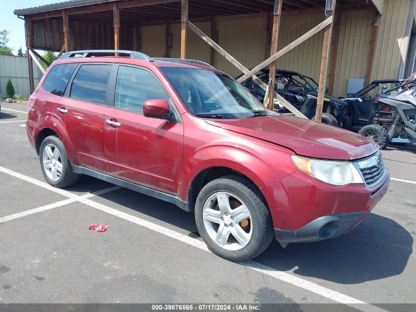
M208 43L210 46L212 46L218 53L220 53L226 60L228 60L232 65L234 65L236 68L240 69L244 73L248 73L249 69L244 67L240 62L238 62L236 59L234 59L227 51L225 51L222 47L220 47L214 40L212 40L210 37L205 35L200 29L198 29L195 25L193 25L190 21L188 21L188 26L191 28L191 30L198 36L201 37L202 40L204 40L206 43ZM254 74L250 75L253 79L253 81L260 86L263 90L267 89L267 85L258 79L258 77ZM284 98L282 98L280 95L278 95L276 92L274 93L274 97L283 105L285 105L295 116L306 118L305 115L303 115L299 110L297 110L292 104L290 104L288 101L286 101Z

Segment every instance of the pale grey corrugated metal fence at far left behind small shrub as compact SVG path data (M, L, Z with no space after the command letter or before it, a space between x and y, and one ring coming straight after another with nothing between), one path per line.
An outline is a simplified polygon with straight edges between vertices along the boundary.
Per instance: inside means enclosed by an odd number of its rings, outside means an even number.
M33 62L34 84L39 83L42 73ZM28 58L12 55L0 55L0 96L7 97L6 84L10 79L14 93L29 97L31 94L29 82Z

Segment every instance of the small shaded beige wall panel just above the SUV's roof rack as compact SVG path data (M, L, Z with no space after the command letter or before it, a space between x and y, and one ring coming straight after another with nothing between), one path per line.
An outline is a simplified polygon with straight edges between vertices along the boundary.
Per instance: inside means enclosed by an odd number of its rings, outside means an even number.
M141 35L141 51L150 57L163 57L165 53L165 26L143 26L141 28Z

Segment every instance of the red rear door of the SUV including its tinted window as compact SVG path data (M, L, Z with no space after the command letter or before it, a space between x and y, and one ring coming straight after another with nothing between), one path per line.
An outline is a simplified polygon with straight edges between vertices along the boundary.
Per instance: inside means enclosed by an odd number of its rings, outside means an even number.
M58 102L59 114L78 164L105 173L103 125L108 107L108 81L112 64L81 63L72 76L64 97Z

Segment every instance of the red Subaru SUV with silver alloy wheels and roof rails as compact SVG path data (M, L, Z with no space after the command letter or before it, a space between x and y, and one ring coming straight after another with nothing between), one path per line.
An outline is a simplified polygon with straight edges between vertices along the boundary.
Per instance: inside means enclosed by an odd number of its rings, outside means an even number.
M49 184L88 174L194 211L233 261L273 236L350 231L390 181L373 141L269 111L208 64L133 51L64 54L30 98L27 132Z

